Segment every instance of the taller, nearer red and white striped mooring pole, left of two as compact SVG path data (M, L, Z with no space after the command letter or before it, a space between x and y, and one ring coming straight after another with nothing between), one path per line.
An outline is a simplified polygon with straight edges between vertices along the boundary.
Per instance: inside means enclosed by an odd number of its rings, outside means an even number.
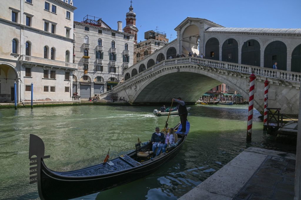
M249 95L249 114L248 114L248 128L247 128L247 141L252 138L252 123L253 123L253 104L254 104L254 89L256 76L252 73L250 76L250 95Z

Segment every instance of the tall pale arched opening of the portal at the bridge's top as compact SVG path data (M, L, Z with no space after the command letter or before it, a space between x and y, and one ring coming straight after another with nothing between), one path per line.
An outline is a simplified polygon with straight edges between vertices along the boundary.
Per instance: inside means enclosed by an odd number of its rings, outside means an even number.
M198 46L200 43L200 29L196 25L192 24L187 26L182 35L182 54L188 55L189 52L192 54L200 54Z

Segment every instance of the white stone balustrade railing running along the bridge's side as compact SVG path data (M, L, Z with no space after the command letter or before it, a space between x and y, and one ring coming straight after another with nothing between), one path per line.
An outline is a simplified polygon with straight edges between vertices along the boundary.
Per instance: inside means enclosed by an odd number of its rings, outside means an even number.
M164 66L175 65L175 64L188 64L188 63L202 65L202 66L209 66L213 68L227 69L227 70L242 72L246 74L251 74L253 72L254 75L277 78L289 82L296 82L298 84L300 83L301 80L301 73L299 72L289 72L284 70L256 67L256 66L243 65L237 63L228 63L228 62L218 61L218 60L202 59L197 57L183 57L183 58L174 58L170 60L163 60L162 62L144 70L143 72L138 73L132 78L129 78L123 83L116 85L113 88L113 91L115 92L116 90L121 89L123 86L131 82L134 82L135 80L140 79L148 74L151 74L152 72L157 71L158 69L163 68Z

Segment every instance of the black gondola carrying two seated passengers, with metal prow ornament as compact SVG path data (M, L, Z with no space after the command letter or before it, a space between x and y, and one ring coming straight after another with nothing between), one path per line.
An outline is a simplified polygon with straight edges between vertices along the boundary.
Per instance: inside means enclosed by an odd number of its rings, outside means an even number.
M44 142L38 136L30 134L29 183L37 183L41 200L64 200L104 191L140 179L162 168L162 165L174 158L182 148L190 124L187 122L185 133L179 132L182 129L180 123L174 128L178 137L176 144L170 145L166 152L155 158L151 156L150 142L143 144L138 142L135 150L109 162L66 172L52 171L45 165L44 159L50 156L44 155ZM148 156L139 157L141 153Z

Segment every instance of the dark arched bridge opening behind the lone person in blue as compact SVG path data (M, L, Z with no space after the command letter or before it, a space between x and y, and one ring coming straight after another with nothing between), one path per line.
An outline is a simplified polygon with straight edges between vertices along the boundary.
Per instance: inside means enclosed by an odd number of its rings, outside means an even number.
M277 69L286 70L287 48L281 41L273 41L264 50L264 67L273 68L277 62Z

